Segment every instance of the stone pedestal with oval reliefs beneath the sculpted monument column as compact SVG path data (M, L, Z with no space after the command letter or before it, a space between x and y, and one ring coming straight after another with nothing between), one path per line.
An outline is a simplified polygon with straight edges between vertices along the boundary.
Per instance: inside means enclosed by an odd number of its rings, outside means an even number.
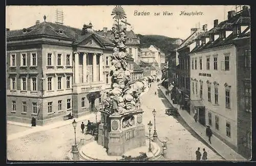
M108 149L108 155L121 156L126 151L145 146L142 113L142 109L110 116L101 112L98 144Z

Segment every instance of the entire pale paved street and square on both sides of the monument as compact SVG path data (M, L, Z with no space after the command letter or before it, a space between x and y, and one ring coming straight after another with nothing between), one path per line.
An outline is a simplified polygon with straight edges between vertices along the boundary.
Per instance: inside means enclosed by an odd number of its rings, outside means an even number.
M154 94L155 91L157 91L156 96ZM203 148L206 149L209 160L222 160L219 155L199 139L200 137L181 118L176 120L174 117L167 116L164 113L165 108L169 107L169 103L157 88L156 83L152 83L152 87L142 96L141 101L141 107L145 111L143 123L146 128L146 134L148 134L147 123L149 120L154 124L152 110L155 108L157 111L156 127L158 136L160 139L162 137L168 139L166 156L165 158L161 157L160 160L195 160L195 151L198 147L201 148L201 153ZM90 120L95 121L94 118ZM87 120L83 122L87 122ZM77 127L77 140L84 138L80 131L80 123L78 122ZM8 133L18 131L13 126L11 128L9 126L7 129L9 130ZM70 125L34 132L9 140L7 157L9 160L67 160L67 154L73 144L74 129L70 123Z

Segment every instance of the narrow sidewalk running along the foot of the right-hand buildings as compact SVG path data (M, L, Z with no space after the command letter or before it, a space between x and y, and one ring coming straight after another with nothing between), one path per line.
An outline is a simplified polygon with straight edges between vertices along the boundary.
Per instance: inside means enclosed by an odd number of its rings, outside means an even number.
M208 143L208 137L205 135L205 127L199 123L195 123L193 117L190 116L186 110L182 110L180 109L179 105L173 104L173 101L170 99L170 96L166 96L166 89L163 86L159 85L159 89L162 91L163 95L169 101L169 103L172 104L174 107L178 108L180 116L184 119L188 126L192 128L199 136L201 136ZM229 146L223 143L223 141L221 141L215 135L212 135L211 144L208 145L215 149L226 160L246 160L246 158L239 155L237 152L235 152L233 149L231 149Z

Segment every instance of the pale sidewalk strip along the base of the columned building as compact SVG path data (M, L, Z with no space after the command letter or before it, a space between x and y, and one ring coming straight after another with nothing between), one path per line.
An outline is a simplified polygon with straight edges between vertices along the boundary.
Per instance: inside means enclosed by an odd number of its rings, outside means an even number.
M97 117L98 117L98 120L100 120L100 112L98 112ZM7 141L12 140L12 139L16 139L16 138L19 138L19 137L23 137L23 136L31 134L31 133L50 130L50 129L58 128L58 127L61 127L61 126L70 125L74 121L74 119L76 120L76 122L80 122L80 121L84 121L84 120L90 120L90 121L95 120L95 113L90 113L90 114L81 116L79 118L73 118L72 120L59 121L59 122L55 122L53 124L46 125L46 126L36 126L36 127L32 127L31 129L22 131L22 132L13 133L13 134L7 135ZM25 126L25 124L10 122L10 121L7 121L7 124Z

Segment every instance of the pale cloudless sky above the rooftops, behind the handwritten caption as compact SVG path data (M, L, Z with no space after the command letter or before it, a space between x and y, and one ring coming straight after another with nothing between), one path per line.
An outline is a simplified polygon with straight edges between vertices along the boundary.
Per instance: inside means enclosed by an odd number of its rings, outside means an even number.
M112 28L114 19L111 16L115 6L7 6L6 28L17 30L29 28L35 25L36 20L55 22L56 9L63 11L64 25L82 29L84 24L92 23L94 30L102 30L103 27ZM150 5L150 6L125 6L127 22L131 23L136 34L163 35L173 38L186 39L190 35L191 28L197 28L207 24L208 30L214 26L214 20L219 22L227 19L227 12L236 10L236 6L191 6L191 5ZM240 8L238 8L238 11ZM149 12L149 15L136 15L135 13ZM172 15L164 16L163 12ZM180 15L194 12L202 15ZM155 13L160 13L155 15ZM196 27L197 26L197 27Z

